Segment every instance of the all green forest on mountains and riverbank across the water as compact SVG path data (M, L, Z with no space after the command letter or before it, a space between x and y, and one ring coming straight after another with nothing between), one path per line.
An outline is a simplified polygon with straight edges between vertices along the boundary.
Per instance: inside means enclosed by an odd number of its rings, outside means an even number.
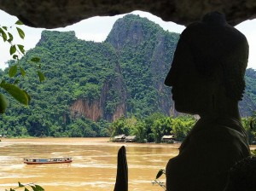
M8 97L9 107L0 115L0 134L9 137L95 137L135 135L137 142L160 142L164 135L183 141L193 116L177 113L171 90L164 86L179 34L138 15L127 14L113 25L102 43L76 38L74 32L44 31L20 66L26 77L1 79L19 82L31 96L28 106ZM40 83L30 62L44 72ZM256 72L247 69L247 89L240 112L250 142L256 132ZM189 94L189 92L188 92ZM253 126L252 126L253 125Z

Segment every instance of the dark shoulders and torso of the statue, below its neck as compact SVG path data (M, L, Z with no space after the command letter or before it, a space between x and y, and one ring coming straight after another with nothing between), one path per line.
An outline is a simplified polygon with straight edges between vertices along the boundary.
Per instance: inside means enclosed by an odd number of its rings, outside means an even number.
M167 191L220 191L230 167L249 154L238 120L200 119L166 166Z

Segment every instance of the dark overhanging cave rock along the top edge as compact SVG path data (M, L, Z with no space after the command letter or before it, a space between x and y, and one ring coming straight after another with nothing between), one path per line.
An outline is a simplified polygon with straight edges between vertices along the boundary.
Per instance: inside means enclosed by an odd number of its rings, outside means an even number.
M0 9L32 27L56 28L93 16L113 16L142 10L162 20L187 26L203 14L218 10L230 25L256 18L255 0L12 0Z

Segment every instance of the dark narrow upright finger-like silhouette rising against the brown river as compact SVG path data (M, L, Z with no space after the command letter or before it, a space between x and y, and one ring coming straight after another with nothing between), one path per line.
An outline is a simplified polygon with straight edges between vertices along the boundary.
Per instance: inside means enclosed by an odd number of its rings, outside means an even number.
M119 148L116 182L113 191L128 191L128 166L124 146Z

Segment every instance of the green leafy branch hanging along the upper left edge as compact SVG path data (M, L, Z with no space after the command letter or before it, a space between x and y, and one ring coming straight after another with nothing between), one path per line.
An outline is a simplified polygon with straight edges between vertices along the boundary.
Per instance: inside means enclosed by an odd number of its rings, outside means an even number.
M23 25L23 23L20 20L17 20L15 22L16 32L18 32L21 39L24 39L25 32L23 32L23 30L20 28L21 25ZM22 44L14 43L14 35L9 32L9 29L11 29L12 27L13 26L0 26L0 37L2 37L3 43L9 43L9 54L15 61L15 64L9 67L9 78L14 78L17 75L18 70L20 70L20 75L22 77L25 77L26 71L23 67L20 66L19 61L21 56L26 55L26 51ZM33 57L29 61L29 63L32 62L38 63L40 62L40 58ZM40 68L41 66L38 65L38 78L40 82L43 82L44 74L39 70ZM17 86L18 83L19 79L16 79L14 83L7 83L5 80L2 79L2 81L0 81L0 88L5 90L10 96L15 98L15 100L27 106L28 102L31 100L31 97L27 94L26 90L22 90L20 89L20 87ZM8 106L9 101L7 100L6 96L0 93L0 113L5 113Z

